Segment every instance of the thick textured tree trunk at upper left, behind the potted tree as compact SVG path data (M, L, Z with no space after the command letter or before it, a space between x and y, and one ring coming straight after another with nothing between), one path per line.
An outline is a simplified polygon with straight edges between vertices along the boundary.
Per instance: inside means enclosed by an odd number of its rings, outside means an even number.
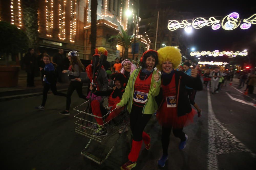
M37 24L38 0L22 1L23 21L25 32L29 38L29 47L38 50L38 24Z

